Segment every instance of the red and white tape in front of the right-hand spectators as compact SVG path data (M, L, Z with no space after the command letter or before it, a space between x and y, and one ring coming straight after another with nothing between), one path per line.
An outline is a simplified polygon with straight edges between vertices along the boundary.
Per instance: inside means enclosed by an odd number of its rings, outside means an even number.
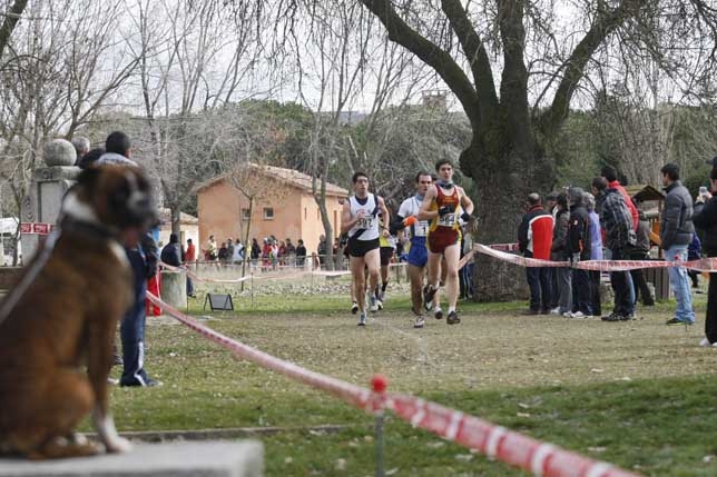
M667 260L585 260L574 265L569 261L541 260L539 258L527 258L504 251L495 250L490 246L478 244L473 250L484 254L499 260L509 261L522 267L572 267L582 270L599 271L627 271L638 268L669 268L685 267L698 271L717 271L717 258L703 258L691 261L667 261Z

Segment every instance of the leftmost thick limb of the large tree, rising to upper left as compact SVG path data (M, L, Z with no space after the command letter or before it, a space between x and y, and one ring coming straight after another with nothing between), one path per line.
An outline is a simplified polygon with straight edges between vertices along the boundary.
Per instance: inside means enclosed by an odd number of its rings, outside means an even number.
M439 73L461 101L463 110L471 119L471 122L480 122L475 89L453 58L445 50L409 27L399 17L390 0L361 0L361 2L381 20L389 32L391 41L411 51Z

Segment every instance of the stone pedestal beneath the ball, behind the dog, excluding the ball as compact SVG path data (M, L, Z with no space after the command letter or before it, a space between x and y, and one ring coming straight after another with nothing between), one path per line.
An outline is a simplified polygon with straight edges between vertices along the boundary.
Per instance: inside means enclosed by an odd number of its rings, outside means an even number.
M56 223L67 189L76 181L80 169L75 166L51 166L32 171L28 195L22 199L22 222ZM38 249L41 235L22 233L22 262L28 264Z

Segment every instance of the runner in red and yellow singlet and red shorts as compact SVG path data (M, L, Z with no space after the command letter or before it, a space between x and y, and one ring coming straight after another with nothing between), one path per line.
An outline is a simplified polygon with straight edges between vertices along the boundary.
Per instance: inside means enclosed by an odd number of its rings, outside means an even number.
M459 296L458 264L461 259L461 226L459 219L469 221L473 212L473 201L463 188L453 183L453 163L443 159L435 163L439 180L423 198L419 220L431 220L428 236L429 285L423 289L425 304L433 299L439 289L441 258L445 258L445 286L449 309L446 322L455 325L461 319L455 312Z

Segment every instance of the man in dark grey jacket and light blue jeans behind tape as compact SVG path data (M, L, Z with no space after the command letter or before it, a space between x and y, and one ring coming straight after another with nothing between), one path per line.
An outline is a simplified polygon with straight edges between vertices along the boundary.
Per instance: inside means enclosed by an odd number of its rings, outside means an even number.
M693 241L695 226L693 225L693 198L679 180L679 167L668 163L660 169L662 185L667 196L660 223L660 247L665 250L667 261L686 261L687 246ZM694 325L693 294L685 267L669 267L670 286L675 292L677 309L667 325Z

